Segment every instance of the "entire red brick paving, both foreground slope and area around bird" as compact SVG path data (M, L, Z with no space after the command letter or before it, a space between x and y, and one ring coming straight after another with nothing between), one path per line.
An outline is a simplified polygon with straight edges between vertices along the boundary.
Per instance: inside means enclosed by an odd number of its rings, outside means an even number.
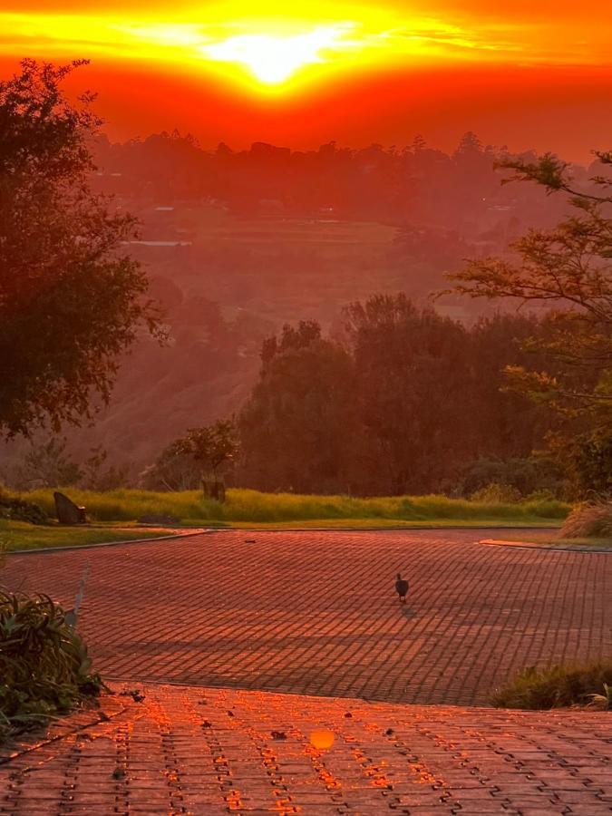
M90 562L83 635L145 700L5 746L0 813L612 813L609 714L461 707L513 668L609 654L612 556L472 531L249 537L9 558L8 586L67 606Z

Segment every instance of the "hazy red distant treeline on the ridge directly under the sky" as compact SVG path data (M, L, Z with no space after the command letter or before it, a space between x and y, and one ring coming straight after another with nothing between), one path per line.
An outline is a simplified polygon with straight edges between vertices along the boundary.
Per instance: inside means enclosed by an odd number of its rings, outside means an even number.
M494 163L509 155L505 146L483 146L472 132L451 154L421 137L401 148L373 144L361 150L331 141L317 151L264 142L248 151L232 151L223 143L204 151L178 132L123 144L102 138L95 145L102 189L159 203L208 198L246 216L419 220L478 232L496 220L552 223L559 216L557 200L542 208L541 189L500 185ZM536 159L535 153L522 156ZM588 175L575 168L577 184L586 184Z

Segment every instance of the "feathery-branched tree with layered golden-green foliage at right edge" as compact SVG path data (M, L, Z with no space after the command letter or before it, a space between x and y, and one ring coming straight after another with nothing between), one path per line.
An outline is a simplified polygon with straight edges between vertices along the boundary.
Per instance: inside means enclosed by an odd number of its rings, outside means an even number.
M604 167L612 153L597 153ZM568 165L547 153L538 162L507 160L510 180L531 180L549 193L565 192L575 214L552 229L531 229L511 248L518 260L471 260L451 275L454 291L471 297L510 298L549 306L547 332L524 344L547 358L544 368L515 362L508 383L590 430L612 422L612 179L593 177L592 191L574 189ZM606 189L608 194L599 194ZM575 434L570 433L570 437Z

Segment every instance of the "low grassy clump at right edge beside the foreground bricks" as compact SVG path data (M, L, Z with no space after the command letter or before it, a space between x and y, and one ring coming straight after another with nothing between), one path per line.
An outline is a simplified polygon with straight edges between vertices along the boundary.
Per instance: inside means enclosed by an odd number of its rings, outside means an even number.
M529 710L589 705L596 697L606 698L609 685L612 661L553 665L545 669L529 666L491 695L491 704L497 708Z

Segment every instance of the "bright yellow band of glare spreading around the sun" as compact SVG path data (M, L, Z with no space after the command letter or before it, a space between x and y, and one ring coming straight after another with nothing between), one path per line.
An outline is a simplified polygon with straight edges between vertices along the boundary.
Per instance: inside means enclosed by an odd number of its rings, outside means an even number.
M0 10L0 58L30 53L112 63L149 63L206 76L262 97L309 92L366 71L465 63L609 63L602 26L579 41L559 28L542 37L529 21L500 26L488 16L429 15L381 0L225 0L153 10L63 14ZM559 23L560 25L560 23ZM548 29L547 29L548 31ZM605 53L604 53L605 52ZM164 69L165 70L165 69Z

